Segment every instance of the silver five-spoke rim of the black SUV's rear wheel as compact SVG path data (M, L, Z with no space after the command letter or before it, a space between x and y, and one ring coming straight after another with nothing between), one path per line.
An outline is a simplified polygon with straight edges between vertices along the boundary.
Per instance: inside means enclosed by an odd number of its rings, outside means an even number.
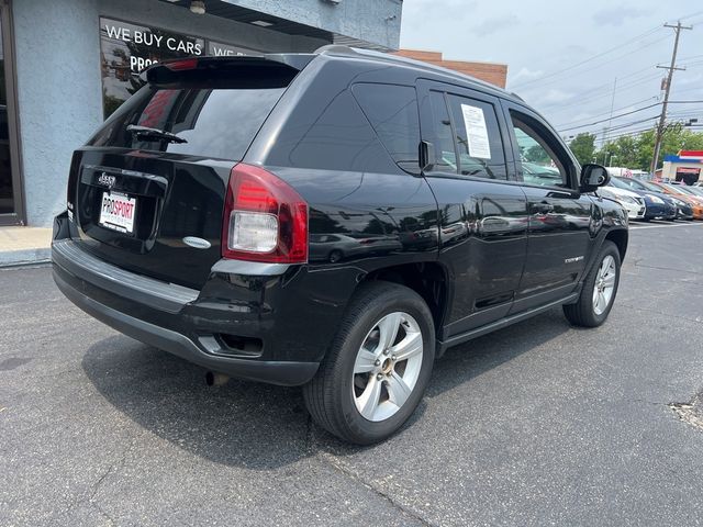
M390 313L373 325L352 379L354 404L365 419L386 421L403 407L417 384L422 356L422 330L408 313Z

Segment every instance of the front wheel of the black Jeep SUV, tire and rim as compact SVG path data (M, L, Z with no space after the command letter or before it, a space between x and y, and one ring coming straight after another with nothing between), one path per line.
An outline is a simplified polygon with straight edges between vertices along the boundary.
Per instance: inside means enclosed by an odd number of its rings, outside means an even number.
M603 243L596 264L585 277L579 300L563 306L571 324L596 327L605 322L613 309L620 285L620 251L610 240Z

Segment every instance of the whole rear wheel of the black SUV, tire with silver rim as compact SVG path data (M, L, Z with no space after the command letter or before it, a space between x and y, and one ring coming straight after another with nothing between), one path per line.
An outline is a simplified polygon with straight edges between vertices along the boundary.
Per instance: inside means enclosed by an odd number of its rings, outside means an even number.
M310 415L349 442L386 439L420 403L434 346L432 313L417 293L389 282L362 285L317 374L303 386Z

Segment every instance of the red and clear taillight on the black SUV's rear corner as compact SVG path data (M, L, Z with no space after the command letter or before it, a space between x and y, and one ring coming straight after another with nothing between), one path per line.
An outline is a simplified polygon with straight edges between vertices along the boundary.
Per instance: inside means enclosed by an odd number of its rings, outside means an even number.
M243 162L230 175L222 229L224 258L308 261L308 203L288 183Z

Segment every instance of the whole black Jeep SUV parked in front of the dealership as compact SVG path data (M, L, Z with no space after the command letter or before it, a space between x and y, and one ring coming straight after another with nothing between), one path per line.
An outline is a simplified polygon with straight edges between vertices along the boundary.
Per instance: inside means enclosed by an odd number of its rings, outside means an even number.
M54 231L57 285L115 329L303 385L317 424L368 444L448 347L558 305L607 317L627 216L517 97L339 46L143 80L76 150Z

